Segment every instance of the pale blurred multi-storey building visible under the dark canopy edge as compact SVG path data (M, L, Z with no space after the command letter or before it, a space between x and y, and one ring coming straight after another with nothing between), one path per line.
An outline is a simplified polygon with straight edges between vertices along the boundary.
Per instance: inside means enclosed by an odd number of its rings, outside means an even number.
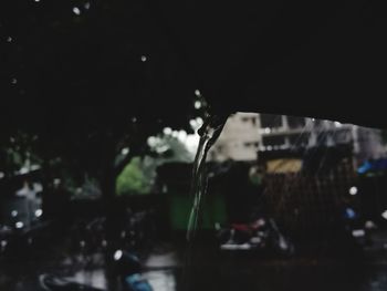
M255 160L258 152L352 144L358 162L385 155L380 131L307 117L237 113L209 153L210 160Z

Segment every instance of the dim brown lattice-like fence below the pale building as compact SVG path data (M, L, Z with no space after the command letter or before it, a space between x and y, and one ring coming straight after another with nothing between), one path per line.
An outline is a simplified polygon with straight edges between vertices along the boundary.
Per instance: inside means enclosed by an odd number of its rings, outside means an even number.
M268 174L266 209L292 236L313 238L337 231L343 211L351 205L349 189L356 185L349 159L327 173Z

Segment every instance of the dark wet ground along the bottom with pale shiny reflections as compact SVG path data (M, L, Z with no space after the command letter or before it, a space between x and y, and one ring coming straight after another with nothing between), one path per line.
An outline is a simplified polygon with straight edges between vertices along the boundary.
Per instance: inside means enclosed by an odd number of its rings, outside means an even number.
M181 264L184 251L148 256L144 260L144 277L155 291L381 291L387 290L387 261L380 251L375 252L373 260L363 262L300 258L262 261L250 254L209 256L210 251L200 247L192 253L195 264L186 270ZM106 289L101 254L93 261L94 267L82 263L82 258L69 260L55 256L24 262L2 260L0 290L40 291L39 276L44 272L66 273L74 281Z

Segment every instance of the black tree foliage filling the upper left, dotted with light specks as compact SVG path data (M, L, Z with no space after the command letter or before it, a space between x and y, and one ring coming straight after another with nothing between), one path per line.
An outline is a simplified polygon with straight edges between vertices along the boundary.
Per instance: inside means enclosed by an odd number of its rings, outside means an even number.
M153 24L158 14L147 3L7 1L1 8L0 86L14 101L0 108L6 176L39 157L46 185L61 179L74 191L88 174L111 195L130 158L148 154L149 136L166 126L188 132L189 119L202 115L205 105L192 103L198 82L164 28ZM126 104L113 101L122 96ZM27 139L12 144L20 131ZM123 148L130 153L117 159Z

